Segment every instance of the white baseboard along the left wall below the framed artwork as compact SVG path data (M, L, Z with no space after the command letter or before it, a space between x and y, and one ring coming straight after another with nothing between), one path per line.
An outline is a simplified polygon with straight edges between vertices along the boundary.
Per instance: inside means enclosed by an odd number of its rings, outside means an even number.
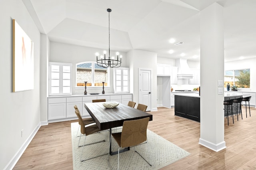
M34 131L30 134L30 136L28 136L27 140L22 144L20 149L16 152L16 154L12 157L12 159L8 162L8 164L4 167L4 170L11 170L14 168L14 166L16 165L16 163L18 162L18 160L20 159L20 157L22 156L22 154L24 153L24 151L26 150L26 148L28 147L28 145L30 144L31 140L34 138L34 136L36 135L40 127L41 125L39 123L37 127L34 129Z

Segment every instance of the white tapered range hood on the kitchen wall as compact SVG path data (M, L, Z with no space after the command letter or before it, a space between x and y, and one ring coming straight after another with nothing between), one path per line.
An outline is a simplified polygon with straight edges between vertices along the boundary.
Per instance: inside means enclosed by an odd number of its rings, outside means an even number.
M192 79L193 74L191 74L190 68L188 67L187 59L176 59L176 66L178 67L178 79Z

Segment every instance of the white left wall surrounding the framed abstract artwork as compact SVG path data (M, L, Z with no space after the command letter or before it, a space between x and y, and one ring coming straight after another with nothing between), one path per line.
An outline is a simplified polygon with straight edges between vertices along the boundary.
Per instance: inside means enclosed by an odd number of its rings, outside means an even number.
M12 19L34 42L34 89L16 93L12 92ZM40 126L40 32L22 0L0 1L0 23L0 169L11 169Z

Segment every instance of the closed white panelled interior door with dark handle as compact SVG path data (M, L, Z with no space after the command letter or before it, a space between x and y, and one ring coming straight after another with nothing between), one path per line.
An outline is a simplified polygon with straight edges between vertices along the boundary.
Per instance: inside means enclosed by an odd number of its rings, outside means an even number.
M139 103L151 111L151 69L139 69Z

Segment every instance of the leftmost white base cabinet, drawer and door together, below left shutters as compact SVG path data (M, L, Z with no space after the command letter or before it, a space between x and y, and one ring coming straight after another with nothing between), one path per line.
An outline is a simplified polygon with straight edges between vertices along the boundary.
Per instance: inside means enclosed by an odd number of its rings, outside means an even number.
M48 99L48 120L66 118L66 97Z

